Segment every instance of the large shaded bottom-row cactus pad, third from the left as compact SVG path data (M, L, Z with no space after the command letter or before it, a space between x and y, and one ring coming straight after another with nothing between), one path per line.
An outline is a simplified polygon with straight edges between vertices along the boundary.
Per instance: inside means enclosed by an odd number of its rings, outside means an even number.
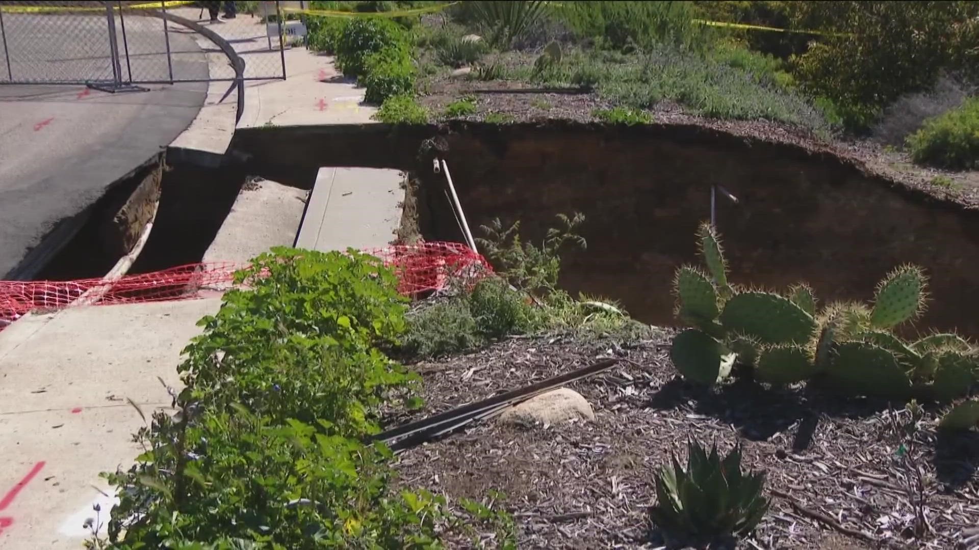
M839 344L828 373L839 390L851 394L905 398L911 388L894 354L874 344Z

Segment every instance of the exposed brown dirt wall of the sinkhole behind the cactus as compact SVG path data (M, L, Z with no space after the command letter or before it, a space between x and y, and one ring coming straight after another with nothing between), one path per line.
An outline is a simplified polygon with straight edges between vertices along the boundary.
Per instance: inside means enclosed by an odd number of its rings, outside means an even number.
M568 255L562 285L618 298L644 321L674 321L673 273L697 259L694 230L717 183L739 200L719 195L717 209L733 281L805 280L823 300L869 299L890 269L917 263L933 296L918 327L979 337L979 212L847 161L715 132L587 127L457 132L439 149L476 233L498 216L539 239L556 213L583 212L588 248ZM461 240L443 176L419 165L422 233Z

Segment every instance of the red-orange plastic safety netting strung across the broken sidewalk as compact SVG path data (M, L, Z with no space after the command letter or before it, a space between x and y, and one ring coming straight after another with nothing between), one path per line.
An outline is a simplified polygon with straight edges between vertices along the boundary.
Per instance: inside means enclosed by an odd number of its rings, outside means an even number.
M458 243L419 243L363 252L384 260L397 276L398 291L407 296L442 290L452 281L471 282L492 272L486 258ZM228 288L240 267L243 265L232 262L194 263L114 282L0 281L0 330L30 311L200 298L208 291Z

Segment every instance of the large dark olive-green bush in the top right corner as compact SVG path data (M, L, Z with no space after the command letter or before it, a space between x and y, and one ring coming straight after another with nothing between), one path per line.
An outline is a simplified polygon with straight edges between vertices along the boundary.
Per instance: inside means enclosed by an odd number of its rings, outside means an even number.
M795 77L854 131L942 70L979 68L976 2L798 2L796 11L797 24L826 34L793 60Z

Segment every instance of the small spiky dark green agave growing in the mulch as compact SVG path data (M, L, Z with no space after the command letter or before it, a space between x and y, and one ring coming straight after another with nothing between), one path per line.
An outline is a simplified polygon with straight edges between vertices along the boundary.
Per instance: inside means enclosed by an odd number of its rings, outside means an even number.
M656 506L649 517L664 534L677 541L712 542L743 536L769 510L762 495L764 473L741 473L741 449L721 458L717 445L710 455L700 443L687 442L684 470L676 456L672 467L656 476Z

